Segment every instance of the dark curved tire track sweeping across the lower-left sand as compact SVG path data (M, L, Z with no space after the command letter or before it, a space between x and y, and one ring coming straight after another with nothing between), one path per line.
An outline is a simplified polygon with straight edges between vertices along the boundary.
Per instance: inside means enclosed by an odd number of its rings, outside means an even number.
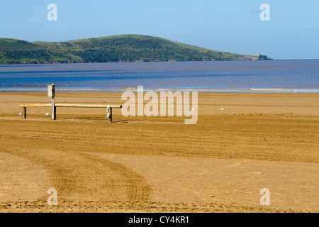
M4 148L1 151L26 158L43 168L51 180L47 189L57 189L58 204L135 203L147 201L150 194L150 187L142 176L88 153L30 148ZM39 203L43 204L48 196L47 191L43 192Z

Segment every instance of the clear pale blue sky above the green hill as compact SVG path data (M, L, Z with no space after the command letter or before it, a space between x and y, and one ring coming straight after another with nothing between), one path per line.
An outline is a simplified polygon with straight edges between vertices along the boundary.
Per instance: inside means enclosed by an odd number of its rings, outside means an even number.
M49 4L57 21L49 21ZM262 4L269 21L262 21ZM267 12L266 12L267 13ZM139 34L201 48L319 59L318 0L0 0L0 38L67 41Z

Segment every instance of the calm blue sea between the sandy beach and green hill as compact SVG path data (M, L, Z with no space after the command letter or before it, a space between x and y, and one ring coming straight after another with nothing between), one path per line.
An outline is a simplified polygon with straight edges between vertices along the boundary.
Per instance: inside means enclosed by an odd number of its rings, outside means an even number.
M319 60L0 65L0 92L319 92Z

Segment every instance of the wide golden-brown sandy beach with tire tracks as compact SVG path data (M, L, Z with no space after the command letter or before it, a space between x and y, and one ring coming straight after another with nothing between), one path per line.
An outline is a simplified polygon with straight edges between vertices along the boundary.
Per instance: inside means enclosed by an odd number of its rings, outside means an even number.
M55 100L123 104L121 94ZM58 108L56 121L50 108L19 115L19 104L50 101L0 92L0 212L319 211L319 94L198 93L194 125L121 109L113 123L105 109ZM51 188L57 205L47 203Z

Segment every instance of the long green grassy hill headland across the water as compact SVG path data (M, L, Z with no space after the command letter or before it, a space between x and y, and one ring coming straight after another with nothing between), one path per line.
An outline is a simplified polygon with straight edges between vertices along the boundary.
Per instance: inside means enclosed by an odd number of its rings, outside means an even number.
M0 38L0 64L271 60L265 55L237 55L198 48L147 35L114 35L67 42Z

